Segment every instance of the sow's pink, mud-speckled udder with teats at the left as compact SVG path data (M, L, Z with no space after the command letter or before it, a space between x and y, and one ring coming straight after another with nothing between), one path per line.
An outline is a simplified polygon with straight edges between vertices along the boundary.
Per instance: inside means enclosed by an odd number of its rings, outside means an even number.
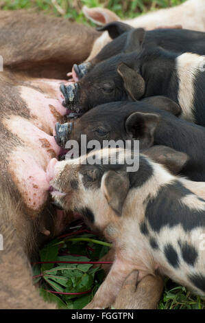
M49 195L47 165L60 155L61 148L52 135L56 122L67 113L60 102L59 87L59 80L18 80L1 92L1 129L8 134L6 172L34 213L43 209Z

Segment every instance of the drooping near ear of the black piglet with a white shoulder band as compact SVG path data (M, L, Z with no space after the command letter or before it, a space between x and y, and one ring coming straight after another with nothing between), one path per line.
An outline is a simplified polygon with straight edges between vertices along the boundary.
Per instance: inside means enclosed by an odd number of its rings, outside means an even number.
M139 100L145 93L145 80L137 71L131 69L125 63L121 63L117 68L117 72L123 78L125 91L132 100Z

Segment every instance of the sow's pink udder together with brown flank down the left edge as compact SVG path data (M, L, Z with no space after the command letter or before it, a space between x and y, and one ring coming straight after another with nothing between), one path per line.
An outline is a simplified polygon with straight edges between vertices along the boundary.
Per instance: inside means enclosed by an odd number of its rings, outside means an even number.
M47 85L46 93L40 84ZM28 259L65 224L49 203L46 175L49 160L60 153L51 135L56 120L63 120L65 113L55 98L59 84L32 78L20 81L5 70L0 74L0 87L0 234L4 247L0 252L0 308L55 308L38 296Z

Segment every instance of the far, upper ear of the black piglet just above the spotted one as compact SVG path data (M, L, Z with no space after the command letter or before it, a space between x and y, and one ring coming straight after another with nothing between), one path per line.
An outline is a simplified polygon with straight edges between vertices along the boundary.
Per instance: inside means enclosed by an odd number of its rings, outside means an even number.
M142 102L146 102L148 104L154 105L154 107L165 110L173 115L180 115L182 113L182 109L173 100L166 98L165 96L151 96L149 98L145 98Z

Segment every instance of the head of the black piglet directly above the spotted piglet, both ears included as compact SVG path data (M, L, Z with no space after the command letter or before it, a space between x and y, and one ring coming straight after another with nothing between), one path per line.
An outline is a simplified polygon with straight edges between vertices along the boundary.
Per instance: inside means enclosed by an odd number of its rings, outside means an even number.
M110 140L139 140L140 148L149 148L154 144L158 129L165 123L166 118L176 118L180 112L180 106L176 102L162 96L138 102L110 102L84 113L73 122L72 128L69 124L60 127L57 124L59 131L56 132L60 133L60 146L68 140L75 140L80 151L82 135L86 135L86 142L97 140L101 148Z

